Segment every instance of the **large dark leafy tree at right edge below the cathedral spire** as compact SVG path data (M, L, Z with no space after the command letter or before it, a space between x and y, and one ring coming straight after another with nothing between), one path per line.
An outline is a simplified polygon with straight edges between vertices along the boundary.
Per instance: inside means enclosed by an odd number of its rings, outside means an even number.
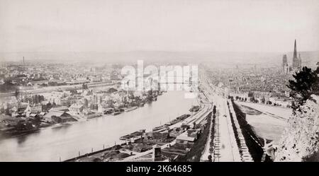
M289 80L288 88L291 89L291 96L298 102L303 104L310 95L318 91L318 74L307 66L293 75L294 80Z

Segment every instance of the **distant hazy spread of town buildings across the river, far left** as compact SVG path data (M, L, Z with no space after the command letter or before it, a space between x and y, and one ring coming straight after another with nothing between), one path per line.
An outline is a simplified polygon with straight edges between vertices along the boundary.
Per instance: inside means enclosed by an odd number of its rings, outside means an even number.
M119 71L120 69L114 69L111 65L6 63L0 67L0 91L118 81L121 79Z

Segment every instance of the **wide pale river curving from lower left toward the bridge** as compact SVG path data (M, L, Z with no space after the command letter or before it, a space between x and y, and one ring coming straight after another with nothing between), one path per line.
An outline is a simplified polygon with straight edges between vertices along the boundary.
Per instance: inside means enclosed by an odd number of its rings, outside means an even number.
M119 137L139 129L169 122L189 113L196 99L185 99L184 91L168 91L157 101L121 115L98 117L60 127L47 127L33 134L1 139L0 161L59 161L119 143Z

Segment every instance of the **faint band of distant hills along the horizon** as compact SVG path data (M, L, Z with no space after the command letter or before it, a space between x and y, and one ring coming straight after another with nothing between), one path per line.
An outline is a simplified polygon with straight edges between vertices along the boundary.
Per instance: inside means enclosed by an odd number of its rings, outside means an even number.
M300 52L304 64L319 61L319 51ZM0 61L89 61L89 62L131 62L138 59L145 62L191 62L203 61L222 64L281 64L283 54L289 62L292 52L257 53L257 52L166 52L166 51L133 51L133 52L0 52Z

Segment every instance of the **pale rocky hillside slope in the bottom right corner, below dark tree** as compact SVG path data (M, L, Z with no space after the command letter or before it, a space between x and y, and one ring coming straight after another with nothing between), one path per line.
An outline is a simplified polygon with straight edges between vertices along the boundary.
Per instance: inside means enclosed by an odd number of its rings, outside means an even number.
M319 97L296 110L289 119L289 125L279 141L275 161L318 160L319 151Z

